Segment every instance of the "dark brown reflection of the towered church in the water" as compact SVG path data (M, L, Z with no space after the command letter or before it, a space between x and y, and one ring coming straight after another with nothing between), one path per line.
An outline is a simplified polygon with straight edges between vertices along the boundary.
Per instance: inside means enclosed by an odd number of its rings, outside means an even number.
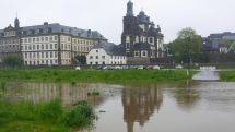
M124 88L124 120L127 122L128 132L133 132L134 122L144 125L155 110L158 112L162 101L161 88Z

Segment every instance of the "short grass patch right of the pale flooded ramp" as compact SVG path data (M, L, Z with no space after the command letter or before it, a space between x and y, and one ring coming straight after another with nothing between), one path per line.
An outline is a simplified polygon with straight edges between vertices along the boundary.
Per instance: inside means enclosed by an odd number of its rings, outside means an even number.
M219 72L221 81L234 82L235 70L222 70Z

